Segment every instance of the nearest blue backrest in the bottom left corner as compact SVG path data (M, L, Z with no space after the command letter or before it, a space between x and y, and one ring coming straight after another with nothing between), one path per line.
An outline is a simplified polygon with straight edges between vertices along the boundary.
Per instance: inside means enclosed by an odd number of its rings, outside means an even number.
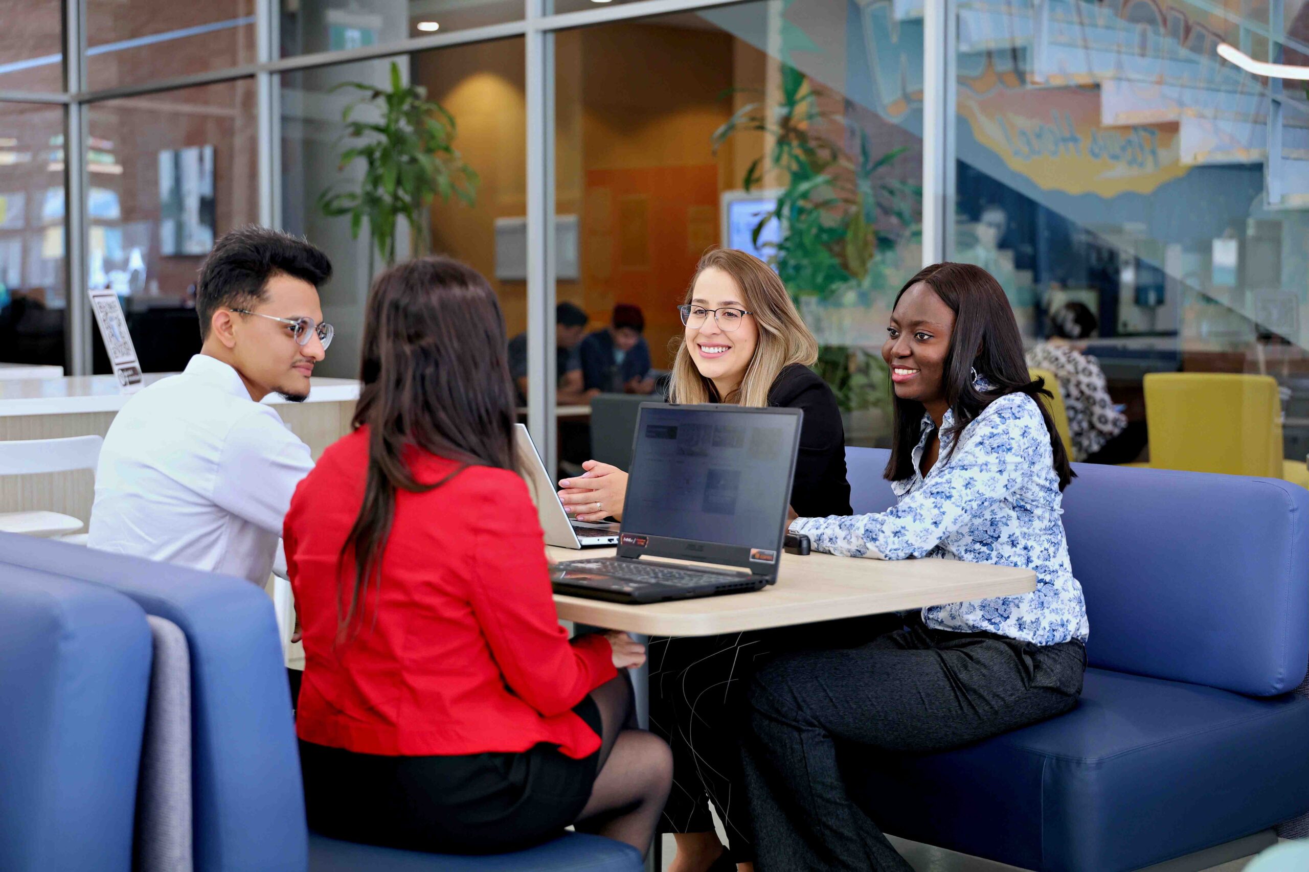
M0 564L0 869L132 868L152 657L127 597Z

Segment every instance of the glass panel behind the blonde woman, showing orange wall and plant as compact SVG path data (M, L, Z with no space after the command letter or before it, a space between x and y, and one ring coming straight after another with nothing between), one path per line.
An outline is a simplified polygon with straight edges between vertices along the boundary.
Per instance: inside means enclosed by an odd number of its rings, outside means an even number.
M588 330L639 306L666 372L700 255L754 251L822 344L847 441L889 444L880 351L922 266L923 86L922 24L890 24L889 7L796 0L558 35L558 296ZM884 68L886 51L910 60Z

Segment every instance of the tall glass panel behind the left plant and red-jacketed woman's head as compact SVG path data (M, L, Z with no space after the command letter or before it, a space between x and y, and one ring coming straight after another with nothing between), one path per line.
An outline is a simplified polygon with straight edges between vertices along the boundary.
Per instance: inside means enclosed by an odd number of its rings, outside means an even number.
M401 88L421 88L431 118L453 122L454 152L436 144L429 154L446 172L449 199L437 196L416 219L416 232L395 221L394 258L446 254L482 272L500 296L509 335L526 330L526 111L524 41L505 39L382 60L343 64L281 76L283 227L302 233L332 261L334 275L322 288L323 317L336 327L325 376L357 377L364 302L370 278L385 268L386 254L372 240L374 224L363 217L352 232L348 196L365 173L382 174L380 161L359 158L342 166L346 149L376 143L376 134L351 136L342 113L365 100L352 118L373 122L381 114L370 93L343 86L356 82L391 90L391 67ZM412 92L410 92L411 96ZM416 96L415 96L416 97ZM475 181L473 181L475 179ZM403 190L403 186L402 186ZM340 203L325 196L344 195ZM378 221L376 227L390 227Z

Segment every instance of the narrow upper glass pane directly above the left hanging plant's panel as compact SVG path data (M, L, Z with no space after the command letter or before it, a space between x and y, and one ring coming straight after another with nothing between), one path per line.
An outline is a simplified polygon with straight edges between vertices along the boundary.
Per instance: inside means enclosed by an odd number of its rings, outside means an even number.
M524 8L522 0L281 0L281 56L518 21Z

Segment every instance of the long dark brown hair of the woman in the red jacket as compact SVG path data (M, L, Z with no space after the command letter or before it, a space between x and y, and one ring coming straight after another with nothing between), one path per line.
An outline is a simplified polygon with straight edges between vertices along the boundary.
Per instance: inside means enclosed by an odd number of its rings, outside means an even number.
M338 640L361 626L369 584L381 585L397 491L435 490L469 466L517 470L504 317L475 270L423 258L377 276L360 380L353 426L368 427L368 481L338 562ZM457 466L439 482L421 483L407 462L414 450ZM351 553L353 584L344 570Z

